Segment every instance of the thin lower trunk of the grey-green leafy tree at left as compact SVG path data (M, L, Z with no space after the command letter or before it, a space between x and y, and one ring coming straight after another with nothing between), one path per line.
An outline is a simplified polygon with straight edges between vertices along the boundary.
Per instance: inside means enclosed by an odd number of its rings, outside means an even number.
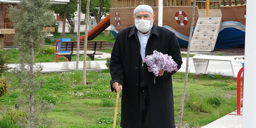
M34 48L31 47L31 57L34 55ZM30 68L30 78L31 78L31 85L29 87L29 128L33 128L34 124L34 58L32 58L31 63L29 65Z

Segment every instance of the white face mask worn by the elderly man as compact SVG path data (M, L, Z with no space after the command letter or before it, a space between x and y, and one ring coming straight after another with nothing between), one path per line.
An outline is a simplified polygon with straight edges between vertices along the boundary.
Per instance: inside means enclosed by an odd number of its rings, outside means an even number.
M152 17L153 19L153 17ZM136 28L142 33L148 32L153 27L153 20L135 19L134 24Z

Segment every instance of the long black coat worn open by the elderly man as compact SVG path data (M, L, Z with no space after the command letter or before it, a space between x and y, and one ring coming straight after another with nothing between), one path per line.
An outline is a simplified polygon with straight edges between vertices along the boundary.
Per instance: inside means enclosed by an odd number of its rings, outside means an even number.
M142 63L140 43L136 32L136 27L131 26L118 33L110 61L111 85L118 82L123 86L121 127L124 128L139 128L138 84L141 71L139 69ZM154 50L172 56L178 68L181 67L182 58L175 33L156 24L152 27L145 55L153 54ZM148 72L147 65L145 65L143 67L146 69L144 73L150 95L148 110L151 115L150 125L152 128L175 128L171 77L175 72L165 71L163 76L156 77L154 84L154 74ZM113 91L112 87L111 89Z

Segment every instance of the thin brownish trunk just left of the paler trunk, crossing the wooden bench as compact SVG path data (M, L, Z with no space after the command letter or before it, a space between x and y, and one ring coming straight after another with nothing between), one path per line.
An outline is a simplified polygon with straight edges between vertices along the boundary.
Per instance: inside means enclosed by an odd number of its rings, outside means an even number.
M79 8L78 8L78 21L77 21L77 67L79 67L79 46L80 46L80 22L81 22L81 0L79 0Z

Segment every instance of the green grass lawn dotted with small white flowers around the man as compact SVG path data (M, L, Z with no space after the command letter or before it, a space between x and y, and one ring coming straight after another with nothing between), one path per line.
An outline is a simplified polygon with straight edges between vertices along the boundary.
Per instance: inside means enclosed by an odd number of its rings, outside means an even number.
M42 74L46 83L37 94L46 97L48 102L54 103L55 109L48 113L48 117L54 120L53 126L56 128L111 128L115 94L110 90L110 71L87 72L86 86L81 85L81 76L81 72L78 71ZM177 123L184 73L177 72L172 77L175 122ZM236 81L218 77L218 74L214 77L216 79L208 75L193 78L192 74L189 74L183 124L200 127L236 109L236 90L224 89L224 87L235 85ZM14 79L13 75L10 75L10 79ZM13 86L14 83L12 82L11 85ZM16 89L0 97L1 109L7 111L21 94L21 90ZM120 125L120 109L119 104L117 126ZM0 117L5 115L4 111L0 112Z

